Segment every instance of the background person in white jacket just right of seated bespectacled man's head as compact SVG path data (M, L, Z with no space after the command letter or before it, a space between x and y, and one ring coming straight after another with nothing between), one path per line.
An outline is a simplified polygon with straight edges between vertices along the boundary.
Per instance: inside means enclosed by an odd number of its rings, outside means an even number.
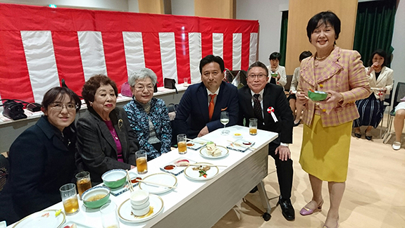
M285 74L285 67L279 65L280 58L281 54L278 52L270 54L270 57L268 58L270 60L270 65L267 67L268 72L270 73L268 82L278 84L284 88L285 84L287 84L287 75Z

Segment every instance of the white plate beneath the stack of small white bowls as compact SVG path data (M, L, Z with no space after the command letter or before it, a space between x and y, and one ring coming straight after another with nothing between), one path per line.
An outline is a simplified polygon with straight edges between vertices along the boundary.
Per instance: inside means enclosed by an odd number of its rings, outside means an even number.
M158 215L158 213L161 213L161 211L163 210L163 200L159 196L150 194L149 203L150 203L149 207L154 208L153 209L154 212L151 213L151 215L148 215L147 217L135 216L132 215L131 201L128 198L126 201L121 203L120 207L118 208L118 217L120 217L120 219L124 220L125 222L134 222L134 223L150 220L151 218Z

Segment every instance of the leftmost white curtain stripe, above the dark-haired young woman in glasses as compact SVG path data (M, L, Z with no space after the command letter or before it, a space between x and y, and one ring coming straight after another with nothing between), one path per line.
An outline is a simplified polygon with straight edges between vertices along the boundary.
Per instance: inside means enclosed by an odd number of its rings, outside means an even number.
M42 102L46 91L60 86L51 31L21 31L32 94Z

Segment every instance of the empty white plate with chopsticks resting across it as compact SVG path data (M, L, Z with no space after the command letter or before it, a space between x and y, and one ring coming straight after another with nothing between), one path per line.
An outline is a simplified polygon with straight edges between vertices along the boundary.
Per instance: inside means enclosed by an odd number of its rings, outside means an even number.
M158 184L166 184L170 186L176 186L177 184L177 177L174 175L164 173L164 172L159 172L159 173L154 173L152 175L149 175L147 177L144 177L142 179L146 182L154 182ZM170 191L171 188L164 187L164 186L156 186L152 184L146 184L143 182L139 182L139 189L149 191L150 194L163 194L166 191Z

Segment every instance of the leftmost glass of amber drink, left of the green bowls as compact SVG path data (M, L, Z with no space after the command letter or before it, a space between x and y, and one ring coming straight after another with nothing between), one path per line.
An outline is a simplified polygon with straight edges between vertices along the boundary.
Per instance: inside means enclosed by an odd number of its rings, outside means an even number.
M77 201L76 185L65 184L59 189L66 215L75 215L79 212L79 201Z

